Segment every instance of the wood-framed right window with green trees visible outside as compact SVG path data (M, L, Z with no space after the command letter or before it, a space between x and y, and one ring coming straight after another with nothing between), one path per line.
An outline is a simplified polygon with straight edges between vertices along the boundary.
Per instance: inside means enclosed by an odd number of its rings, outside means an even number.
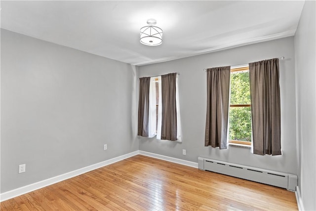
M249 67L231 69L229 142L251 145Z

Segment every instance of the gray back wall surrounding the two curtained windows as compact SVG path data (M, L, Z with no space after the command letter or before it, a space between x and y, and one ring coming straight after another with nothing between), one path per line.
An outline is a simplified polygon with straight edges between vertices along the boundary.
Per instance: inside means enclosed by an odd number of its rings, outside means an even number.
M249 148L204 147L206 73L204 68L247 64L284 56L279 61L281 93L281 156L254 155ZM252 167L297 174L294 38L250 44L214 53L139 67L139 77L180 72L179 95L183 142L140 138L139 149L192 162L207 157ZM187 155L182 155L186 149Z

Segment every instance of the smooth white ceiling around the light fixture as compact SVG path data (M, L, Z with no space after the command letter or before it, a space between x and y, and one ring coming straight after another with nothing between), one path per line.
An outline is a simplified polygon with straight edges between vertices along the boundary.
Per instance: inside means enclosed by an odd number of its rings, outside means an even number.
M293 36L305 1L3 1L1 28L145 65ZM163 42L139 42L154 18Z

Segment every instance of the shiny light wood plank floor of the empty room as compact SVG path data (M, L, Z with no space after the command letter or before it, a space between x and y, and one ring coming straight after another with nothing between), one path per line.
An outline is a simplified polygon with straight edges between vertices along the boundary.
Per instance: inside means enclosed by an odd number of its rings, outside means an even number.
M0 203L6 210L298 210L282 188L137 155Z

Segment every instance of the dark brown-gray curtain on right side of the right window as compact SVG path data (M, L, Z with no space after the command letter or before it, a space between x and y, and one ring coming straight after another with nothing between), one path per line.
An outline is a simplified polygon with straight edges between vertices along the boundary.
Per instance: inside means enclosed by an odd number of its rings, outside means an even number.
M278 59L249 63L253 153L281 155Z

